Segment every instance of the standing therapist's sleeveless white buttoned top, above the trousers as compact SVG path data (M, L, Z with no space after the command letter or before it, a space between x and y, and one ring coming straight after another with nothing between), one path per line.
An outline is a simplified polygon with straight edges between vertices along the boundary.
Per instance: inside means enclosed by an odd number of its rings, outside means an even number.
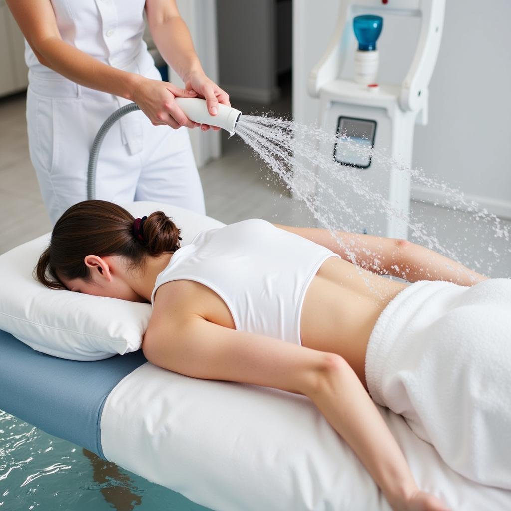
M51 0L51 3L64 42L122 71L153 80L161 79L143 39L144 0ZM131 103L127 99L78 85L41 64L27 40L25 61L29 67L30 90L39 96L113 101L113 110ZM68 112L72 115L71 110ZM105 112L104 120L111 113L107 105ZM122 142L132 155L140 153L144 147L141 118L141 115L127 115L120 120Z

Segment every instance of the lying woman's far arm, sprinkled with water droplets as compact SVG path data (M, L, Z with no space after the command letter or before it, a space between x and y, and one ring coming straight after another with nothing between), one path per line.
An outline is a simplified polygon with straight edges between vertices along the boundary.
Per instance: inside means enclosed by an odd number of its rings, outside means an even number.
M329 229L275 225L326 246L342 259L379 275L400 277L408 282L447 281L461 286L472 286L487 278L407 240L343 231L338 231L336 238Z

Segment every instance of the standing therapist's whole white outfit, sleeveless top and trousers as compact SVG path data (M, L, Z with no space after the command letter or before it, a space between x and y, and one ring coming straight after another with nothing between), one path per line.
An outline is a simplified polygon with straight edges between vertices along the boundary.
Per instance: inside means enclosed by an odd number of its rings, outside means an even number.
M51 0L64 42L97 60L161 80L147 51L144 0ZM129 100L83 87L42 65L28 44L30 156L51 220L86 199L94 137ZM153 126L141 111L110 129L98 160L96 198L152 200L204 213L202 186L187 128Z

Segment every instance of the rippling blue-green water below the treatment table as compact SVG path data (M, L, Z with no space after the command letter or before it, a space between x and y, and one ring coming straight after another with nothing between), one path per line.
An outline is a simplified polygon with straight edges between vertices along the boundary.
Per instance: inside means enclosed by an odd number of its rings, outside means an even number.
M0 511L32 509L211 511L0 410Z

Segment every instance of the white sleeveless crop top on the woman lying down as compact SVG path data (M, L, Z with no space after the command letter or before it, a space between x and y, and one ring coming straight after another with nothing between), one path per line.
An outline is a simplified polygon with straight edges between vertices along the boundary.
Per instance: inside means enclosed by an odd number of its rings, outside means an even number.
M174 252L151 304L162 284L198 282L224 301L236 330L301 344L305 293L331 257L339 255L258 218L204 230Z

